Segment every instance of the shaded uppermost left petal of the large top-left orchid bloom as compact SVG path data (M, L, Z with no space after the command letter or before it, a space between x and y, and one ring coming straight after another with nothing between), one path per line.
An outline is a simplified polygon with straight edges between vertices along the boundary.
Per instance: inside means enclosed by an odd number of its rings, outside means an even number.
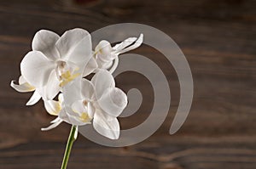
M60 55L55 47L55 43L59 38L60 36L53 31L38 31L32 40L32 50L42 52L48 59L58 59Z

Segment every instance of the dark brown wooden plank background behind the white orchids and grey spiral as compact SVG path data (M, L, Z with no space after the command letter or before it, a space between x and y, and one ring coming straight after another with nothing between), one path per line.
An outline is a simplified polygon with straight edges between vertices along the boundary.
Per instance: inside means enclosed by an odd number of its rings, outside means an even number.
M158 132L126 148L104 147L79 135L68 168L256 168L255 8L253 0L1 0L0 168L61 166L69 125L41 132L53 117L42 102L26 107L30 93L9 87L20 76L20 60L31 49L34 33L49 29L61 34L74 27L96 31L122 22L152 25L183 50L195 82L189 117L181 130L168 134L179 99L177 76L170 70L172 109ZM168 71L152 48L135 52ZM117 82L124 89L130 82L151 91L136 74L119 76ZM121 119L122 127L145 120L150 106Z

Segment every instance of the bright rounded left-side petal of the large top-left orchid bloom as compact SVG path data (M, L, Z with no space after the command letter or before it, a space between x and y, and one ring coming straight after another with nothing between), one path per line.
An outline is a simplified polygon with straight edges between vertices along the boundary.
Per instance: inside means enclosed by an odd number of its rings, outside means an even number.
M44 87L54 66L54 62L47 59L43 53L32 51L22 59L20 70L26 82L34 87Z

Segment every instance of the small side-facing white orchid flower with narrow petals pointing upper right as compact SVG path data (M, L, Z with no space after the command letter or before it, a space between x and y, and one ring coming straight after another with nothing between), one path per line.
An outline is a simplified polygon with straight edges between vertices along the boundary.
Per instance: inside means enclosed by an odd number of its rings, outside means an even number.
M94 58L98 65L98 69L111 69L111 73L117 68L119 63L119 54L124 54L128 51L131 51L135 48L138 48L143 43L143 34L137 37L129 37L125 41L116 44L114 47L111 47L110 42L102 40L98 43L95 48ZM113 62L114 60L114 62Z

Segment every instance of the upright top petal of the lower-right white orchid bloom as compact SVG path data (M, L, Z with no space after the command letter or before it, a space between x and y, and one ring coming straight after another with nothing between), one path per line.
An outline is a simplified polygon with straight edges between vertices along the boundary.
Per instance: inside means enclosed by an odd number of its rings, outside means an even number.
M108 70L99 70L96 75L92 77L91 82L95 86L96 99L100 99L106 89L114 87L115 85L113 76Z

